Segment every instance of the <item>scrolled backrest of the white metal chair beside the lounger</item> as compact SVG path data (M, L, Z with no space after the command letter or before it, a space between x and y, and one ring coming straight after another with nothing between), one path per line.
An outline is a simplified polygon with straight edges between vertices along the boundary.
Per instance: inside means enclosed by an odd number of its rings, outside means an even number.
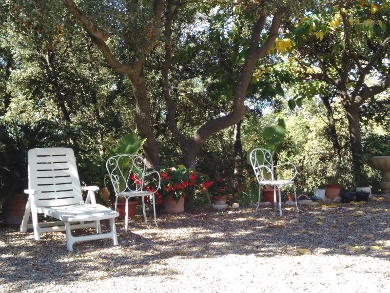
M107 160L106 167L115 193L143 190L146 166L142 157L116 155Z

